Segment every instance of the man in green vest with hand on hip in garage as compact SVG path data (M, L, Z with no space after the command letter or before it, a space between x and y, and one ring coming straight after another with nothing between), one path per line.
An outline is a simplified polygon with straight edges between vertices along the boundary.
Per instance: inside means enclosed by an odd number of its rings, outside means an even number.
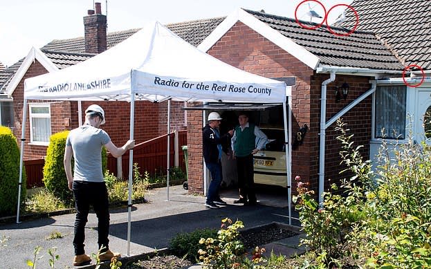
M268 137L255 124L248 122L246 112L239 113L239 126L232 136L232 158L237 159L239 199L234 203L257 205L253 154L264 148ZM257 139L258 138L258 139ZM256 143L256 140L258 141Z

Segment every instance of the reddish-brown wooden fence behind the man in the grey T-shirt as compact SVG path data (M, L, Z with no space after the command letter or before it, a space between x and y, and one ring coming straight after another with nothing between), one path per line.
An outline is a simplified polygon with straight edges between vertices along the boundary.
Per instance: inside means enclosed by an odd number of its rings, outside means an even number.
M185 172L185 158L182 150L187 145L187 131L176 131L169 134L170 165L178 166ZM121 158L122 171L118 171L117 158L108 154L107 169L115 175L119 172L122 178L129 178L129 151ZM142 142L134 147L134 163L138 163L139 171L147 171L151 176L166 174L167 170L167 135ZM43 187L44 159L24 160L27 174L27 188ZM66 180L66 179L65 179Z

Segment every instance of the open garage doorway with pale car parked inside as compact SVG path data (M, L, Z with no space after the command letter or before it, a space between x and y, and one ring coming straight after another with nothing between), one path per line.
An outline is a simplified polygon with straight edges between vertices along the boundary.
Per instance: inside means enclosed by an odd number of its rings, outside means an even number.
M284 112L282 104L233 104L233 103L205 103L199 106L189 106L184 110L201 110L203 118L216 111L221 115L220 132L226 133L239 124L238 116L246 111L249 122L256 124L268 137L262 151L253 156L254 180L257 200L259 204L277 207L288 206L288 188L286 182L286 151L284 138ZM203 122L205 124L206 122ZM290 126L290 124L287 124ZM257 141L256 141L257 142ZM231 145L223 145L221 165L223 167L223 181L221 196L237 199L238 179L236 160L231 158ZM210 173L204 174L205 186L209 186ZM206 193L205 193L206 194Z

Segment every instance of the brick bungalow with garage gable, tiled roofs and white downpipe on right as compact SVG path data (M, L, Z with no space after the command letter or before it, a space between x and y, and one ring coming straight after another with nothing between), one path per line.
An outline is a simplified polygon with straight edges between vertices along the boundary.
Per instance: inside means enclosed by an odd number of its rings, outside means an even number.
M412 2L418 5L412 5ZM385 138L389 144L405 142L407 113L416 115L414 131L419 136L425 131L418 122L431 107L429 77L420 87L415 87L418 77L421 78L417 70L412 72L412 78L407 78L406 82L402 80L405 66L418 63L418 57L423 60L423 77L429 76L430 1L405 1L398 6L387 1L384 19L376 15L380 4L360 0L351 6L356 7L356 3L360 27L351 34L355 24L353 12L347 12L348 20L343 24L346 28L331 29L338 33L334 35L326 26L301 21L305 26L302 27L295 19L240 9L226 17L198 46L223 62L250 73L271 78L296 77L292 89L292 133L303 124L309 126L309 131L303 144L292 152L292 178L300 175L316 194L328 189L330 179L337 182L347 177L339 174L345 167L340 166L340 142L336 140L339 133L334 130L337 118L342 117L348 124L356 145L364 146L360 150L363 157L373 160L384 139L380 134L382 127L398 133ZM409 19L418 16L428 21L428 34L425 34L428 38L401 31L408 26L417 26L417 21L412 23ZM379 26L376 32L367 28L376 25ZM401 27L404 25L407 27ZM391 30L386 33L387 29ZM395 35L397 29L401 33ZM412 43L405 44L407 40ZM412 44L421 44L418 50L422 53L416 55L414 49L407 52L405 48ZM340 94L345 83L349 85L349 92L338 102L336 93ZM428 98L421 103L423 109L419 111L416 108L422 95ZM396 102L394 98L398 98ZM204 119L200 111L190 112L187 119L189 189L202 193L203 182L208 180L203 176L201 153ZM292 187L295 192L295 183Z

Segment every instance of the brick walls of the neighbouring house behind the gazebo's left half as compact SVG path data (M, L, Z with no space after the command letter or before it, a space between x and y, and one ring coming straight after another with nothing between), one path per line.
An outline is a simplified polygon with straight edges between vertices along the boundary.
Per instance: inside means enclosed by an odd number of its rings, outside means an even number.
M12 97L15 111L15 136L21 139L22 109L24 103L24 80L46 73L46 69L35 61L30 66L23 80L19 82ZM28 100L28 103L51 103L51 133L71 130L78 126L77 102ZM99 104L105 112L106 124L102 128L109 133L112 142L120 147L129 139L130 131L130 103L116 101L82 102L82 113L90 104ZM181 110L183 102L171 102L171 129L183 130L184 112ZM84 122L84 115L82 115ZM134 139L137 143L161 136L167 132L167 102L154 104L147 101L135 102ZM46 146L30 145L30 123L26 120L26 147L24 158L43 158L46 156Z

